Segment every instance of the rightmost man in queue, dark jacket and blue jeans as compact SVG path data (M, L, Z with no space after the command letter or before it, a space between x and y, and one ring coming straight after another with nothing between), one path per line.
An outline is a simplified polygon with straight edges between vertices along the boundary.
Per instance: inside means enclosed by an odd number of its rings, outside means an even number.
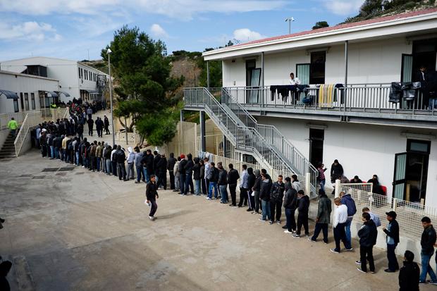
M429 261L431 261L431 256L434 254L434 244L436 244L436 230L434 230L431 224L431 219L427 216L421 218L421 225L424 227L424 232L421 234L421 273L420 282L426 283L426 275L429 274L431 281L429 283L437 285L436 273L434 273L433 268L430 266Z

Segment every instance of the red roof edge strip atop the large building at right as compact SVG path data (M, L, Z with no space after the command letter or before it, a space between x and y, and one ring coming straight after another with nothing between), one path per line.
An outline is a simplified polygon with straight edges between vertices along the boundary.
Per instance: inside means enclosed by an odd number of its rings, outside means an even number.
M368 25L368 24L373 24L373 23L383 23L383 22L390 21L390 20L410 18L410 17L421 16L424 14L429 14L429 13L434 13L434 12L437 12L437 8L429 8L429 9L424 9L424 10L419 10L419 11L411 11L411 12L406 12L406 13L395 14L393 16L383 16L380 18L363 20L363 21L359 21L356 23L345 23L345 24L340 24L340 25L336 25L336 26L332 26L332 27L324 27L324 28L319 28L316 30L307 30L307 31L297 32L297 33L293 33L291 35L281 35L278 37L269 37L269 38L265 38L265 39L258 39L258 40L254 40L252 42L245 42L243 44L236 44L232 47L227 47L226 49L232 49L235 47L245 47L245 46L248 46L250 44L261 44L263 42L271 42L273 40L287 39L287 38L291 38L291 37L301 37L303 35L313 35L313 34L319 33L319 32L341 30L343 28L357 27L357 26Z

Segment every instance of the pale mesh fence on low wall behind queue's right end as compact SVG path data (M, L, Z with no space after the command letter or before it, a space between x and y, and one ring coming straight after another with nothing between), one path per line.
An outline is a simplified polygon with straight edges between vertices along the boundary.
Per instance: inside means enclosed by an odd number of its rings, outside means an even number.
M384 221L386 221L386 212L395 211L398 214L396 220L399 223L401 235L415 240L421 237L421 233L424 230L421 225L421 218L428 216L431 218L431 221L437 221L437 208L435 207L375 194L354 185L356 184L341 184L340 191L350 194L355 200L357 213L354 218L358 221L361 221L363 207L369 207L372 213L377 214L381 218L383 225Z

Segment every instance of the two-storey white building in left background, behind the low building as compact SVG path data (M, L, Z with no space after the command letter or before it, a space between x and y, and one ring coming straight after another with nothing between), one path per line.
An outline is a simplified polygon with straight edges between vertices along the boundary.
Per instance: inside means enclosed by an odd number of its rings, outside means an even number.
M56 90L59 97L55 97L55 101L64 102L73 98L94 101L101 96L104 87L104 82L101 81L106 80L107 76L80 61L42 56L3 61L0 63L0 69L59 80L59 90Z

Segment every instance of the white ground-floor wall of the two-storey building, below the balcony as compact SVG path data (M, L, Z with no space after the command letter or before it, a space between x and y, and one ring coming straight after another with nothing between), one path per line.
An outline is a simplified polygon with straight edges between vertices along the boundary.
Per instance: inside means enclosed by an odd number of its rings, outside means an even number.
M271 117L257 119L259 123L275 125L309 159L309 126L311 126L309 121ZM412 130L350 123L323 123L323 125L327 126L324 131L324 163L328 171L333 161L338 159L347 178L359 175L362 180L369 180L376 174L381 185L387 187L389 196L393 190L391 183L395 154L407 150L407 137L402 136L401 132L437 135L437 130ZM437 187L437 140L431 140L428 168L425 203L437 207L437 195L433 194L433 189ZM329 174L326 178L327 183L328 180Z

